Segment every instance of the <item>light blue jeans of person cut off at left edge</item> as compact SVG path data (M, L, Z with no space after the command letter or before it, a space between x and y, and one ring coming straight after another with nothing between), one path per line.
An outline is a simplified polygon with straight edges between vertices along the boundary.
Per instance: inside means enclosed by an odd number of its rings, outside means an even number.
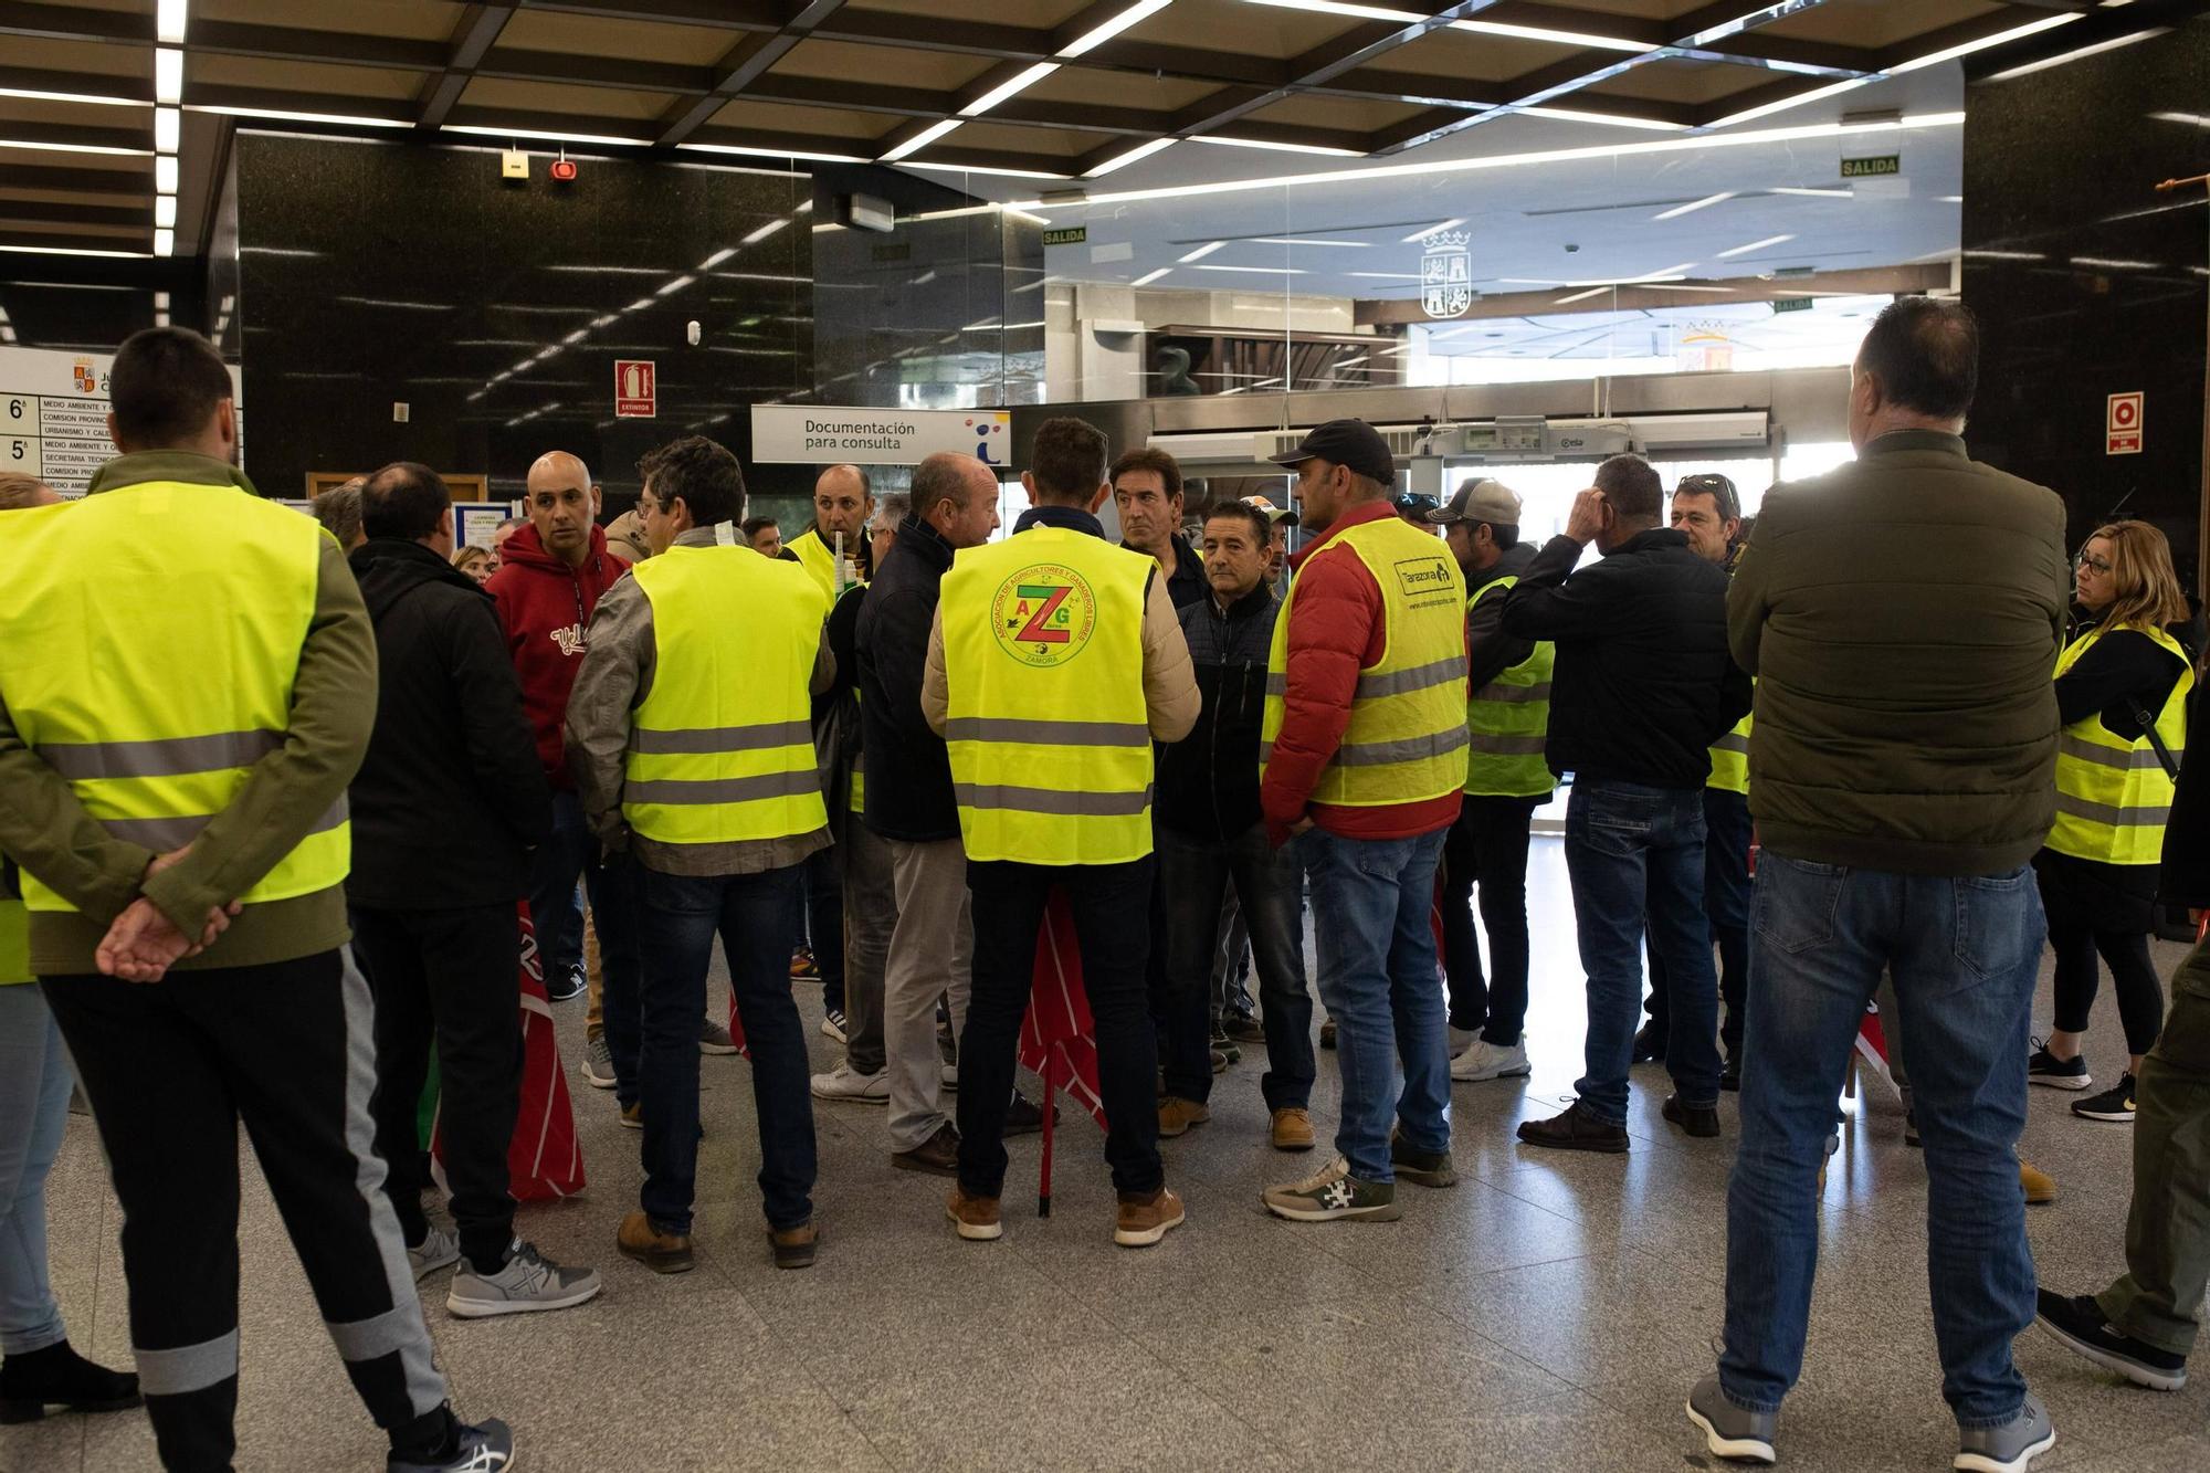
M69 1055L35 982L0 986L0 1356L69 1338L46 1283L46 1172L69 1121Z

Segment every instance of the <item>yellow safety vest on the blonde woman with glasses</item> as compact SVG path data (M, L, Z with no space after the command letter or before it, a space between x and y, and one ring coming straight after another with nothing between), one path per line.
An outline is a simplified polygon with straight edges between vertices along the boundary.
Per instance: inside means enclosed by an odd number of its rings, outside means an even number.
M2128 626L2148 635L2159 648L2179 657L2183 675L2157 712L2157 736L2172 761L2186 756L2188 692L2195 690L2195 666L2179 641L2161 628ZM2064 675L2104 630L2093 628L2058 657ZM2115 736L2102 723L2102 712L2073 721L2058 734L2058 823L2049 829L2049 847L2073 858L2104 865L2155 865L2164 856L2164 825L2172 816L2172 779L2164 774L2144 732L2139 741Z

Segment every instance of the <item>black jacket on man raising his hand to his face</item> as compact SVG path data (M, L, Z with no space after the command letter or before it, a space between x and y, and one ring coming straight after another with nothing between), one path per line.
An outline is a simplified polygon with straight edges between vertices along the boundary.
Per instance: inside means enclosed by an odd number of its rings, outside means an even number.
M1726 652L1726 568L1669 526L1574 573L1580 551L1551 537L1503 608L1503 633L1558 646L1549 770L1702 787L1711 743L1750 710L1750 677Z

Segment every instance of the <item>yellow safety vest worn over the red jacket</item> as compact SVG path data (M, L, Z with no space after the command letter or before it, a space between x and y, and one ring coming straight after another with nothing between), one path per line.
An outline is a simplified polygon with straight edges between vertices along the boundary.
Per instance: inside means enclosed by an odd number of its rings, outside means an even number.
M1357 557L1381 588L1381 661L1359 670L1350 725L1313 785L1313 803L1381 807L1425 803L1465 787L1465 582L1436 537L1397 518L1359 522L1313 557ZM1306 560L1308 573L1313 560ZM1273 621L1260 774L1282 734L1288 621L1299 577Z

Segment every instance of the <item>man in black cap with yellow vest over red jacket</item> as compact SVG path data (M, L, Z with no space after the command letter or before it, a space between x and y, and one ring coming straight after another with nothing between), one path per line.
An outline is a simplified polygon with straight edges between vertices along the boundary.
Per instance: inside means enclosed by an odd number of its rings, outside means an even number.
M1335 1161L1264 1203L1291 1221L1386 1221L1399 1177L1456 1179L1430 909L1465 792L1465 584L1432 533L1397 520L1397 462L1370 425L1330 420L1280 460L1319 535L1291 557L1275 624L1260 807L1313 882L1344 1108Z

